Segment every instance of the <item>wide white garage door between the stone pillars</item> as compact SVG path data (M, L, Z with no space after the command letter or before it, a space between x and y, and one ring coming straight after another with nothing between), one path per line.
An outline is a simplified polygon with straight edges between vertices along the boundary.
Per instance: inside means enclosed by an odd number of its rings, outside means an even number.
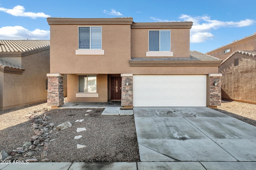
M206 75L134 75L134 107L206 107Z

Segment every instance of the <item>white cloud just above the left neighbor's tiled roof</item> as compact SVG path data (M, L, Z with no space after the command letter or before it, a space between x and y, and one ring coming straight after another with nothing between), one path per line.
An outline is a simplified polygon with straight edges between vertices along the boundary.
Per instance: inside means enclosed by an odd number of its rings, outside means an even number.
M21 26L0 28L0 39L50 39L50 31L35 29L29 31Z

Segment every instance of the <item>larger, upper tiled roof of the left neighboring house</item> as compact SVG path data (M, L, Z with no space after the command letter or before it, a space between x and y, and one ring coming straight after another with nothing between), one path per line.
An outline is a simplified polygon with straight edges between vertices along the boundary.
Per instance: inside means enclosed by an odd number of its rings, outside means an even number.
M50 49L50 40L0 40L0 57L22 57Z

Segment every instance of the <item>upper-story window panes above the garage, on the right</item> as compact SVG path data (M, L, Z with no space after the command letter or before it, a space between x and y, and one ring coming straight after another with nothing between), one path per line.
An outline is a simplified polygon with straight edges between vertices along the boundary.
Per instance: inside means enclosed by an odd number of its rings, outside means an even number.
M170 30L149 31L148 51L170 51Z

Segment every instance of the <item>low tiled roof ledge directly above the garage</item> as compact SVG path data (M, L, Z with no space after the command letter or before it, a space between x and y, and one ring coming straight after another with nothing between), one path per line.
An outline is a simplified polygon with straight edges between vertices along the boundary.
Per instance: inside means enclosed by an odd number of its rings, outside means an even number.
M131 58L130 66L219 66L222 60L190 51L188 58Z

